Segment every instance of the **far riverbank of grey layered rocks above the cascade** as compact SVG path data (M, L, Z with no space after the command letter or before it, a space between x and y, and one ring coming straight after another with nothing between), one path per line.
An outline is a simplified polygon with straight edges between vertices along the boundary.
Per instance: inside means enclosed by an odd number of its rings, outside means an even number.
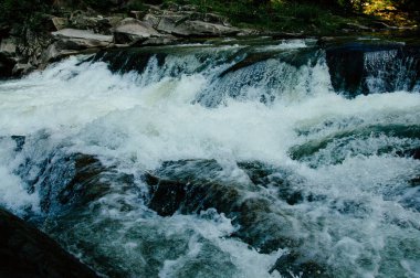
M285 18L285 22L300 22ZM168 45L206 41L211 38L271 36L273 40L325 36L375 35L406 36L418 32L416 25L391 25L377 19L335 19L328 28L316 26L309 19L290 26L261 26L230 23L220 15L192 4L143 4L141 10L98 12L86 8L57 7L51 14L40 14L35 25L1 26L0 77L19 77L42 70L52 62L101 50ZM360 23L361 22L361 23ZM416 34L409 34L416 38Z

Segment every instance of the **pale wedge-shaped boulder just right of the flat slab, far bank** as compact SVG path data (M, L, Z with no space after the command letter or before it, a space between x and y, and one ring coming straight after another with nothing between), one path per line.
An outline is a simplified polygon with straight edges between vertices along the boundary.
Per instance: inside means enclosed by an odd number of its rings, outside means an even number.
M116 43L134 44L157 36L160 34L150 24L135 19L123 20L114 30Z

